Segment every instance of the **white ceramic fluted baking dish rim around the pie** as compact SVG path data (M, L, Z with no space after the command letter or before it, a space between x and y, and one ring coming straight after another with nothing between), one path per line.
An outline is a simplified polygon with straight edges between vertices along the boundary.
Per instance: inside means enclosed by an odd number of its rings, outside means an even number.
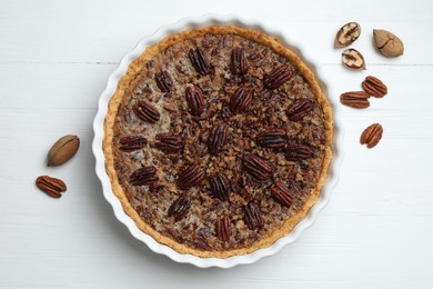
M157 242L152 237L148 236L143 231L141 231L139 228L135 227L135 223L133 220L123 211L122 206L119 201L119 199L114 196L111 189L111 183L109 180L109 177L105 172L105 163L104 163L104 156L102 150L102 140L103 140L103 122L104 118L108 111L108 103L110 98L115 91L118 81L121 79L121 77L125 73L128 66L138 58L143 50L150 46L153 44L164 37L185 30L190 28L197 28L197 27L207 27L207 26L223 26L223 24L236 24L241 27L248 27L248 28L255 28L259 30L264 31L265 33L270 36L274 36L279 38L282 42L284 42L288 47L293 49L305 63L309 64L309 67L313 70L313 72L316 74L318 79L320 80L325 93L329 96L330 93L330 82L326 81L325 78L323 78L323 73L320 71L320 67L314 66L313 63L318 63L314 61L314 58L312 56L306 56L304 52L302 52L302 46L300 46L298 42L293 41L292 39L286 38L285 36L279 33L274 29L270 29L264 23L255 21L255 20L245 20L241 19L238 16L215 16L215 14L207 14L198 18L184 18L180 20L179 22L175 22L173 24L168 24L164 27L161 27L154 34L150 37L145 37L137 44L137 47L128 52L122 60L120 61L119 67L110 74L107 83L107 88L101 93L98 102L98 112L93 121L93 130L94 130L94 139L92 143L92 149L94 157L97 159L95 165L95 171L99 177L99 179L102 182L102 189L103 189L103 196L105 199L111 203L115 217L127 226L129 231L133 237L144 242L152 251L157 253L162 253L171 258L172 260L177 262L185 262L185 263L192 263L194 266L205 268L205 267L221 267L221 268L230 268L236 265L241 263L252 263L263 257L274 255L278 252L283 246L288 243L294 242L301 232L309 228L318 217L319 212L325 207L325 205L329 201L332 188L336 183L338 177L339 177L339 167L342 160L342 139L343 139L343 132L341 128L341 121L340 121L340 113L338 106L333 104L333 111L334 111L334 140L333 140L333 160L330 166L326 183L324 188L322 189L322 193L318 200L318 202L313 206L313 208L309 211L306 217L296 225L294 230L292 230L288 236L279 239L276 242L274 242L272 246L256 250L252 253L245 255L245 256L235 256L226 259L218 259L218 258L199 258L191 255L181 255L170 247L167 247L164 245L161 245Z

